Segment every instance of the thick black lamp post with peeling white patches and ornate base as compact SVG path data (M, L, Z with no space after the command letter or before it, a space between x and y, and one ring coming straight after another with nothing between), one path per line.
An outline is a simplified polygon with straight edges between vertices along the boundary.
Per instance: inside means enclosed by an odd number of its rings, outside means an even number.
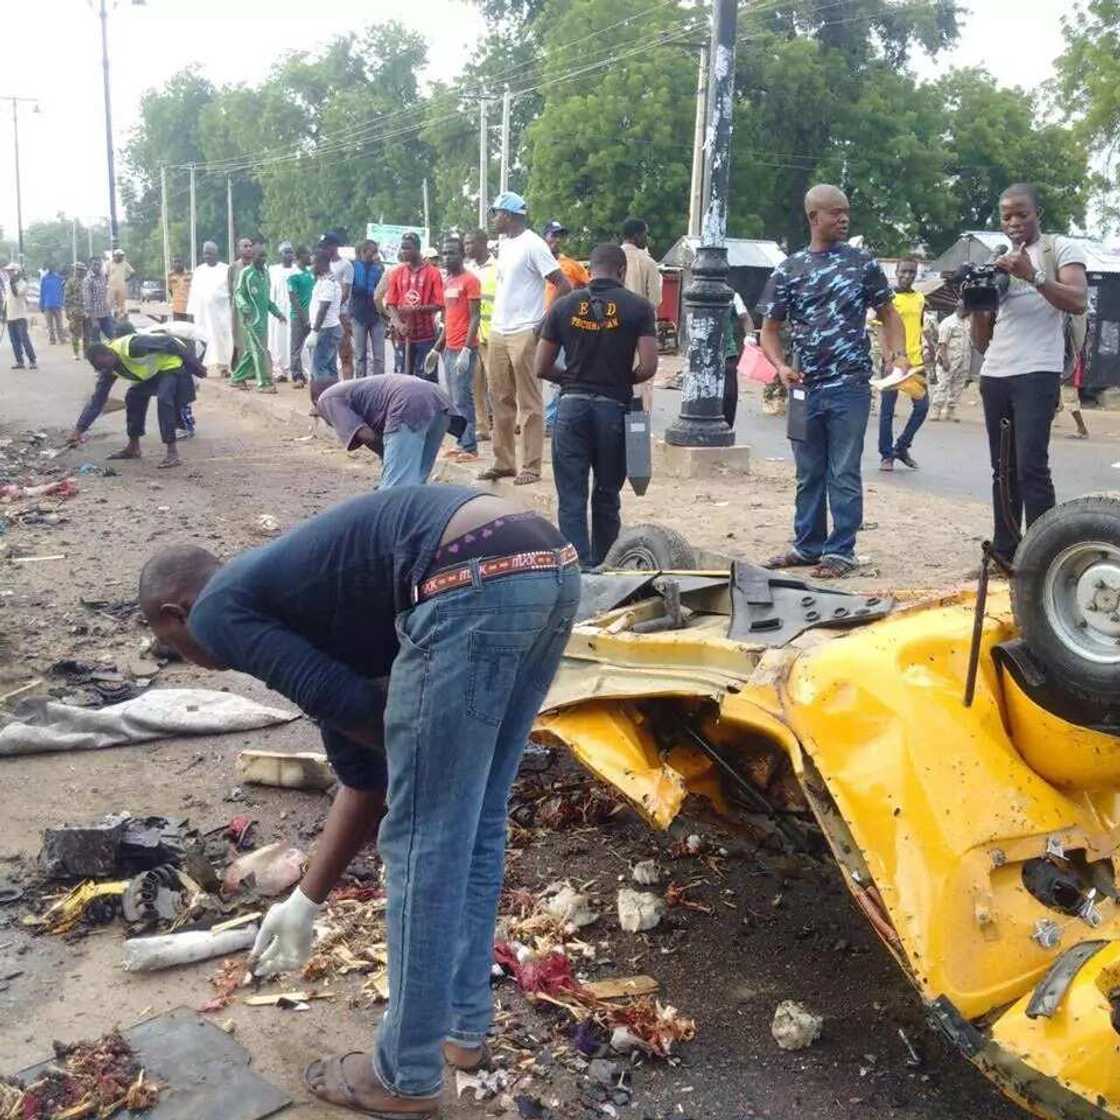
M701 217L701 241L692 262L692 281L684 292L688 362L681 389L681 412L665 432L665 442L676 447L728 447L735 442L735 432L724 420L724 332L731 302L726 239L737 15L736 0L715 0L704 137L709 197Z

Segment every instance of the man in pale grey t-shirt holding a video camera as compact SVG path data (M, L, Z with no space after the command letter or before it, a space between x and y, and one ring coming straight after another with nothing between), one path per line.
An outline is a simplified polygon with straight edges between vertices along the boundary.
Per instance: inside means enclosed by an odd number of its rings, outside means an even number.
M1085 314L1088 281L1085 258L1076 243L1040 233L1042 207L1035 187L1025 183L1008 187L1000 196L999 212L1012 248L993 263L1007 282L984 286L965 280L962 296L972 314L972 340L984 355L980 396L991 449L993 549L1009 564L1024 514L1029 526L1055 502L1051 423L1076 333L1074 319ZM987 291L978 290L984 287ZM1000 494L1005 419L1011 422L1007 514Z

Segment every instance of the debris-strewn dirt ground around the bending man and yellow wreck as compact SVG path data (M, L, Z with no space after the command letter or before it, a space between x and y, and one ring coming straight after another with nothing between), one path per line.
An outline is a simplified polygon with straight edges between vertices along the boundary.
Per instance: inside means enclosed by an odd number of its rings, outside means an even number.
M38 339L37 339L38 340ZM72 364L60 347L43 339L43 368L0 379L0 440L35 455L59 446L90 386L88 371ZM7 364L7 363L6 363ZM282 389L286 399L295 396ZM245 414L223 386L207 385L196 407L199 436L183 447L185 466L155 469L148 458L118 464L115 476L76 475L80 493L65 503L44 501L47 523L20 524L11 508L0 542L13 554L63 560L2 566L0 577L0 694L30 680L46 683L60 657L127 664L147 631L134 619L119 622L82 605L134 595L144 558L160 544L193 540L222 556L259 543L260 514L291 525L344 496L365 489L371 464L348 457L329 441L306 440L307 423L292 410L289 422L269 412ZM273 400L274 399L270 399ZM152 418L152 427L153 427ZM81 464L101 466L119 446L120 414L94 428L82 449L40 466L64 477ZM34 447L28 432L45 432ZM10 445L10 446L16 446ZM0 456L4 448L0 445ZM747 478L704 484L655 482L627 517L663 520L694 543L719 551L760 556L788 535L792 479L781 464L756 464ZM878 575L859 584L936 586L956 580L983 532L983 510L930 500L899 503L869 487L866 547ZM62 517L53 524L50 519ZM922 531L899 542L907 532ZM915 570L914 558L921 558ZM235 673L203 673L181 664L165 668L155 687L228 688L239 694L281 702L256 681ZM235 790L234 759L246 747L316 749L308 721L248 735L160 740L147 746L40 755L0 760L0 880L27 888L25 899L0 906L0 1073L48 1055L53 1039L94 1037L178 1006L197 1007L211 995L215 963L150 976L123 973L123 933L114 923L75 940L32 936L21 918L38 908L43 889L36 870L40 832L62 822L84 822L110 811L138 815L189 816L209 830L237 813L259 821L258 843L272 840L307 848L328 806L319 793L245 787ZM563 759L547 781L579 783ZM697 833L729 855L712 861L680 856L682 836ZM711 913L673 909L647 934L618 927L615 894L638 859L656 858L674 881L694 884L690 897ZM367 853L364 868L373 867ZM781 859L759 851L707 815L685 814L670 834L653 834L628 809L586 828L534 828L516 833L510 886L538 892L566 878L585 887L603 917L587 931L596 946L591 979L648 973L661 998L696 1019L698 1034L672 1064L645 1062L632 1071L633 1101L612 1104L634 1120L917 1120L972 1118L1011 1120L1021 1116L963 1058L951 1053L922 1019L918 1000L862 917L850 904L829 865ZM360 986L351 977L333 981L336 998L304 1014L251 1008L236 1001L215 1018L232 1019L253 1067L282 1085L296 1104L286 1114L338 1117L314 1102L300 1073L316 1055L366 1048L377 1011L352 1006ZM562 1014L530 1007L506 981L495 990L504 1011L500 1053L525 1063L528 1081L516 1092L540 1099L558 1118L582 1120L615 1114L604 1110L586 1072L575 1060ZM769 1033L775 1006L784 999L808 1004L824 1017L812 1048L785 1053ZM903 1030L921 1063L907 1064ZM503 1048L503 1039L528 1051ZM445 1114L473 1117L534 1114L508 1100L476 1104L445 1093ZM524 1109L524 1105L522 1107Z

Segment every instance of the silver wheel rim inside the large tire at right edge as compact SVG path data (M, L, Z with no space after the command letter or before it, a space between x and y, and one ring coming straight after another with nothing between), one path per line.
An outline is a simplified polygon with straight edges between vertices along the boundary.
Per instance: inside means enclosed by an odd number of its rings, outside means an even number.
M1083 541L1058 553L1046 571L1043 609L1071 653L1120 665L1120 548Z

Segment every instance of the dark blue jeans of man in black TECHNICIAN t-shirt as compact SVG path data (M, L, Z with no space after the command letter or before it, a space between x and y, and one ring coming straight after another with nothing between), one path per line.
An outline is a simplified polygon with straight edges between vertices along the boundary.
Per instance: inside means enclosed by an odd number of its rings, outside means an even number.
M552 432L552 475L557 486L560 532L576 545L585 568L603 563L622 528L626 482L626 405L606 396L566 393L557 401ZM587 532L588 475L591 533Z

